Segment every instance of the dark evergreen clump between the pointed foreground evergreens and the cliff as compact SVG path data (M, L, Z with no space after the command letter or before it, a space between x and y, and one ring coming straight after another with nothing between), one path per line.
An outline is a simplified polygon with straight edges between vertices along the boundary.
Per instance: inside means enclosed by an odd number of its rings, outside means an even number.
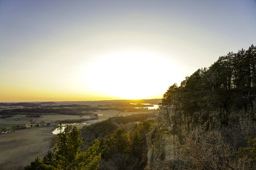
M101 161L98 169L144 169L147 165L146 134L154 126L154 120L144 120L135 124L130 133L118 128L108 137L99 139Z

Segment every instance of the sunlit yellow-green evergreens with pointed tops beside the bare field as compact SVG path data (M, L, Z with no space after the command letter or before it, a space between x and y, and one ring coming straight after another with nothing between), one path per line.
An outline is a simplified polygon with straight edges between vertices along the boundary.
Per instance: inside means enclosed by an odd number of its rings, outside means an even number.
M95 140L90 147L82 151L80 135L81 131L76 126L73 126L72 131L66 126L65 130L58 134L53 152L49 151L43 161L37 156L35 161L24 169L97 169L101 159L101 154L98 153L100 141Z

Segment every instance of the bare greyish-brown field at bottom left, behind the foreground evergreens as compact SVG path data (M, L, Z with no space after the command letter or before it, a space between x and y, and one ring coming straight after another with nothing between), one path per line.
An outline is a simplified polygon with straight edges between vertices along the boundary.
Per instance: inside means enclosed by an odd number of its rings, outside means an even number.
M0 169L23 169L36 155L43 158L53 147L52 127L16 130L0 136Z

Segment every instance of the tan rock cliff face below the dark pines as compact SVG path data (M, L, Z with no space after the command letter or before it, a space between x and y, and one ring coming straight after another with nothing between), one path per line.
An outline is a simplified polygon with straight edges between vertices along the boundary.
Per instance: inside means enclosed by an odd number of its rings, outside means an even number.
M246 115L226 111L185 114L173 106L162 106L155 116L155 128L147 134L150 168L174 168L175 135L179 134L179 126L185 126L187 129L203 126L205 130L221 130L238 146L242 146L245 145L243 138L246 135L255 135L254 117L254 112Z

